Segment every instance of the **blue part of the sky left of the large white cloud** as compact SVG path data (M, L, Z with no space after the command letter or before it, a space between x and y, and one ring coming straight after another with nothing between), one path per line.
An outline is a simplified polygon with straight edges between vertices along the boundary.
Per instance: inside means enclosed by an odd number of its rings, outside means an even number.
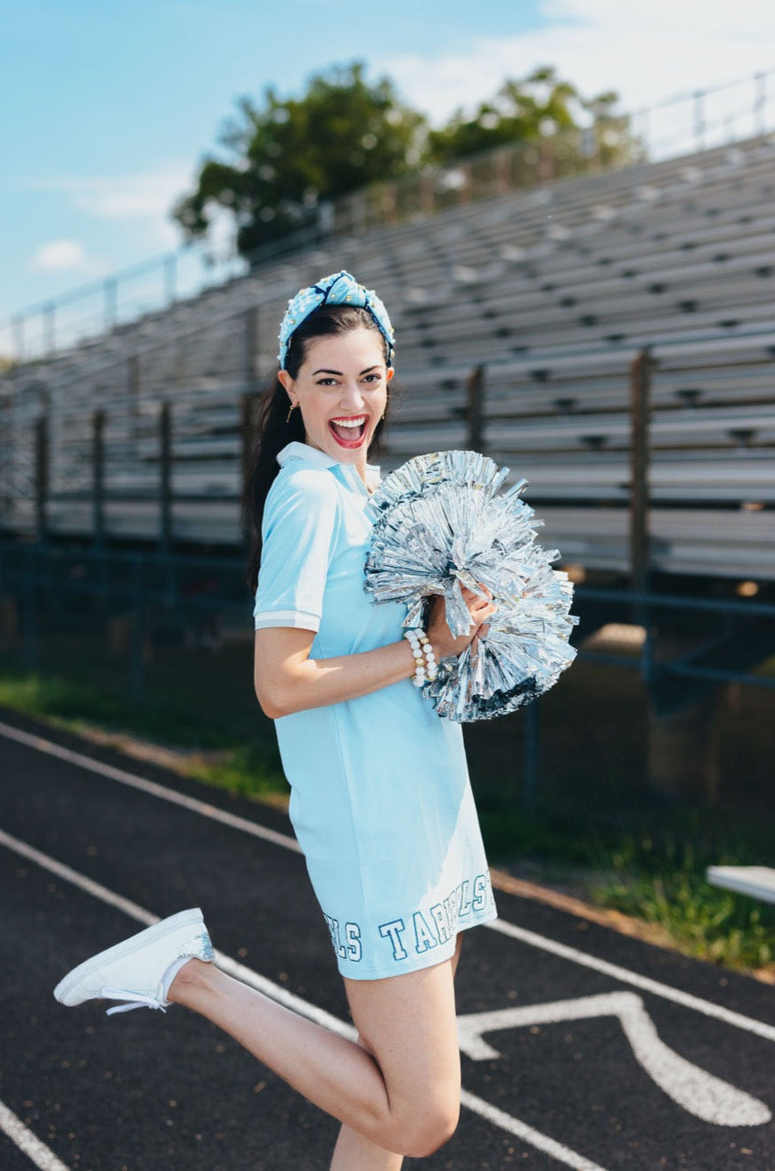
M0 0L0 317L174 246L158 205L190 184L238 95L299 93L311 71L355 59L376 77L383 59L431 39L433 53L465 53L472 7ZM509 35L541 23L533 2L475 9ZM57 241L69 253L44 251Z

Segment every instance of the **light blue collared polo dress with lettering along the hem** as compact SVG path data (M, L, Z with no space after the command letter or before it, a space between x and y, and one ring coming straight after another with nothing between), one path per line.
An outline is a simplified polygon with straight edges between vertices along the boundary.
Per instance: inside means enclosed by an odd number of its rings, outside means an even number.
M399 642L405 607L363 589L372 519L357 470L302 443L277 460L256 630L315 631L321 659ZM369 477L376 486L379 470ZM411 679L275 724L290 819L343 975L439 964L458 931L495 918L461 727Z

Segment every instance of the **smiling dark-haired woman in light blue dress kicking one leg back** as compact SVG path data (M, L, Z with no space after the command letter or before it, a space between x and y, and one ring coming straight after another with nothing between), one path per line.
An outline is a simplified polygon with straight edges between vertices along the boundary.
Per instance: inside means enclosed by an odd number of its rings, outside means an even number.
M393 356L382 302L334 274L290 302L280 341L251 480L254 685L358 1041L218 971L198 909L87 960L55 994L192 1008L342 1122L332 1171L398 1171L455 1129L460 938L495 918L461 728L421 685L493 607L464 590L469 628L454 637L443 598L406 630L403 604L365 594L368 454Z

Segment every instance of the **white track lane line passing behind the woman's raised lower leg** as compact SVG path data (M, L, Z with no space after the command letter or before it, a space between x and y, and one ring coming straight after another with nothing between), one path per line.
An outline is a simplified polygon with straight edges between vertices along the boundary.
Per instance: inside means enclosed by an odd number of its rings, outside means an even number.
M146 911L145 908L138 906L137 903L132 903L122 895L116 895L114 891L109 890L108 886L103 886L102 883L97 883L92 878L88 878L85 875L78 874L78 871L74 870L71 867L64 865L62 862L57 862L56 858L52 858L41 850L36 850L33 845L28 845L27 842L22 842L20 838L13 837L11 834L6 834L2 829L0 829L0 845L5 845L7 849L13 850L14 854L27 858L29 862L36 863L43 870L48 870L49 874L56 875L64 882L69 882L73 885L81 888L81 890L84 890L92 897L101 899L103 903L108 903L110 906L117 908L137 923L142 923L143 926L148 927L153 923L159 922L158 915L152 915L151 911ZM286 1005L288 1008L293 1008L294 1012L306 1016L308 1020L315 1021L317 1025L323 1025L325 1028L338 1033L341 1036L355 1040L357 1035L356 1030L351 1025L347 1025L344 1021L341 1021L338 1016L327 1013L316 1005L310 1005L309 1001L295 995L287 988L280 987L280 985L268 980L259 972L254 972L244 964L238 964L236 960L232 959L231 956L224 954L224 952L217 951L215 959L219 967L221 967L225 972L228 972L229 975L234 975L239 980L242 980L244 984L248 984L252 987L258 988L259 992L263 992L273 1000ZM512 1115L506 1114L503 1110L499 1110L496 1107L491 1105L488 1102L476 1097L474 1094L469 1094L467 1090L462 1090L461 1102L467 1109L478 1114L481 1118L485 1118L493 1125L499 1127L501 1130L506 1130L508 1134L514 1135L537 1150L544 1151L558 1163L563 1163L565 1166L571 1167L572 1171L605 1171L605 1167L599 1166L599 1164L592 1163L590 1159L584 1158L583 1155L578 1155L569 1146L564 1146L562 1143L556 1142L556 1139L550 1138L549 1135L543 1135L540 1130L534 1130L533 1127L528 1127L527 1123L520 1122L519 1118L512 1117ZM21 1125L21 1123L19 1123L19 1125ZM37 1142L37 1139L34 1141ZM63 1164L59 1163L59 1160L50 1164L39 1163L37 1165L41 1167L41 1171L68 1171L68 1169L64 1167Z

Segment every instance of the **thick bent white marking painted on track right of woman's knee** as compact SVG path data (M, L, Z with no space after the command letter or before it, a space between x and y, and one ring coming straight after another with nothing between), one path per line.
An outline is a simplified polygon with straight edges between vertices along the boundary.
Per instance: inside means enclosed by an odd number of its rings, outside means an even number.
M643 1000L635 992L608 992L576 1000L555 1000L524 1008L498 1008L488 1013L458 1016L460 1048L474 1061L500 1057L483 1039L485 1033L555 1025L561 1021L618 1016L632 1052L649 1076L678 1105L716 1127L761 1127L771 1114L763 1102L729 1086L713 1074L679 1056L660 1040Z

